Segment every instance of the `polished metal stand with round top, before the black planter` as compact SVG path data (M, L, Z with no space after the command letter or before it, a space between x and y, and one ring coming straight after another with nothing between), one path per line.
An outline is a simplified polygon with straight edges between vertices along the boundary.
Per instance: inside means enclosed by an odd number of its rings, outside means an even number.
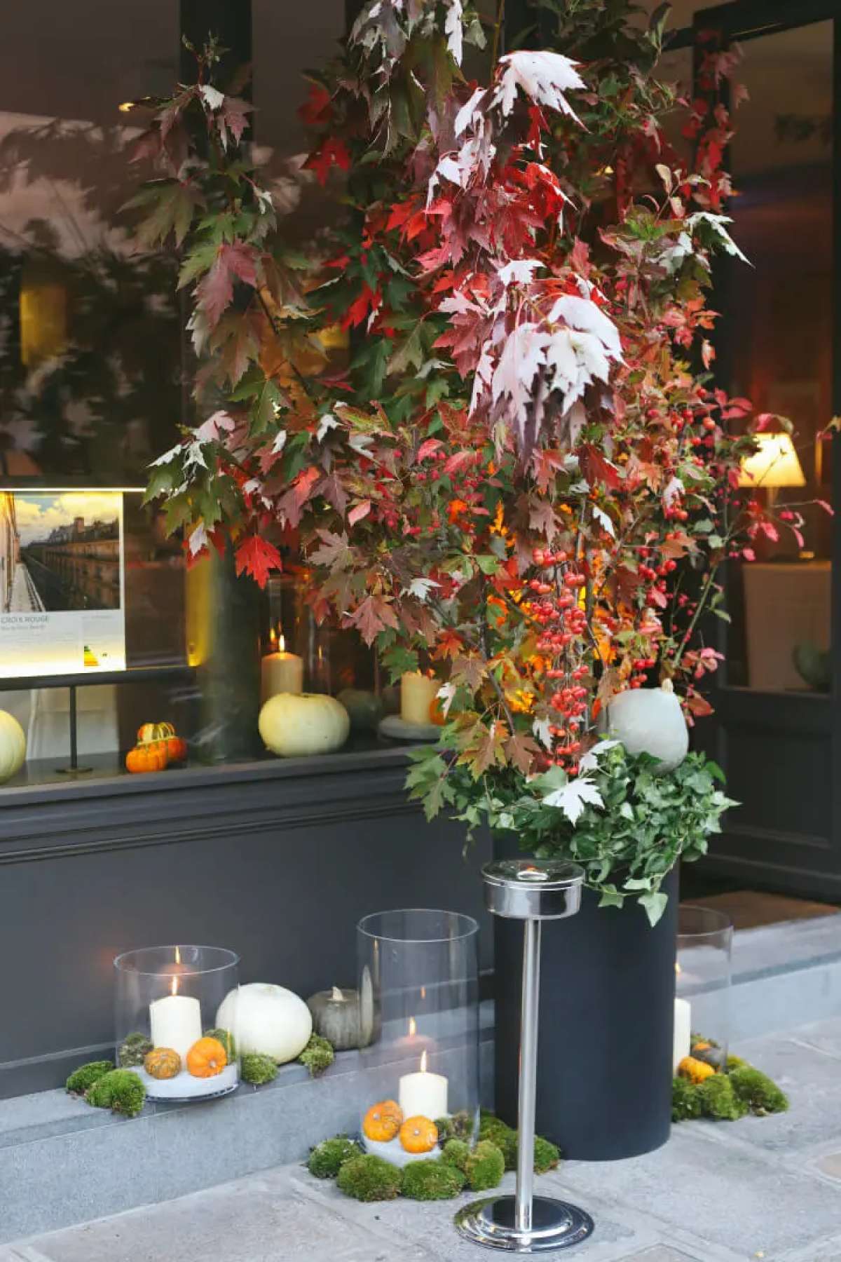
M581 905L584 868L562 861L502 859L487 863L482 877L488 910L523 921L517 1190L513 1196L488 1196L465 1205L455 1215L455 1227L489 1249L548 1253L580 1244L593 1232L593 1219L583 1209L535 1196L541 923L575 915Z

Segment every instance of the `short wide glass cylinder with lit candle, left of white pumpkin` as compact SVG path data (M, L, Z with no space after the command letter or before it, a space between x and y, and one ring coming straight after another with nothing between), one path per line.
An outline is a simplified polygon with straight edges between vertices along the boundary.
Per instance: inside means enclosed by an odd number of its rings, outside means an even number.
M148 1099L209 1099L236 1090L238 964L238 955L222 946L146 946L117 955L116 1059L137 1074ZM227 1026L221 1029L217 1012L224 1000Z

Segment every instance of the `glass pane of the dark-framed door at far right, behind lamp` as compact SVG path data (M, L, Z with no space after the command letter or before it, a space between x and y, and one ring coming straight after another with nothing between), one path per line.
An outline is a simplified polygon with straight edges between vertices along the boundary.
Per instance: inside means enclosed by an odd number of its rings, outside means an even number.
M729 276L721 366L734 395L797 432L745 493L778 509L831 501L832 23L750 40L739 78L750 98L731 146L731 213L754 268ZM763 538L731 575L731 684L828 689L831 526L804 511L803 546L788 531Z

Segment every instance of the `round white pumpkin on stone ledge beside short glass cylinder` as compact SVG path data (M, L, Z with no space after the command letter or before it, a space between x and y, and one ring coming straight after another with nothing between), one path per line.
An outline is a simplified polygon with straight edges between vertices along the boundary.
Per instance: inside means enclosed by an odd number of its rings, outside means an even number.
M231 1030L240 1051L274 1056L279 1065L300 1056L313 1032L303 1000L282 986L250 982L229 991L216 1013L218 1030Z

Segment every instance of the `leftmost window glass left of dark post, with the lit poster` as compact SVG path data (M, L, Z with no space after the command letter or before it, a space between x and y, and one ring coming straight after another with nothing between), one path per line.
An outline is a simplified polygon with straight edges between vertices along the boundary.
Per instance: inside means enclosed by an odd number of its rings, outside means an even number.
M68 665L83 651L81 674L124 660L129 668L183 664L180 541L165 538L160 514L142 509L139 492L92 493L141 487L180 419L177 260L137 250L121 211L150 173L129 163L139 126L121 106L166 95L177 80L178 0L32 0L6 9L0 613L86 620L76 639L68 630L59 644L52 623L43 636ZM117 611L125 659L95 639L97 625ZM68 761L69 694L4 688L3 679L18 673L8 623L5 632L0 708L28 734L21 776L52 779ZM25 647L19 636L18 649ZM183 688L174 695L163 684L79 688L83 764L121 766L120 751L134 745L142 721L166 717L184 729L189 708Z

